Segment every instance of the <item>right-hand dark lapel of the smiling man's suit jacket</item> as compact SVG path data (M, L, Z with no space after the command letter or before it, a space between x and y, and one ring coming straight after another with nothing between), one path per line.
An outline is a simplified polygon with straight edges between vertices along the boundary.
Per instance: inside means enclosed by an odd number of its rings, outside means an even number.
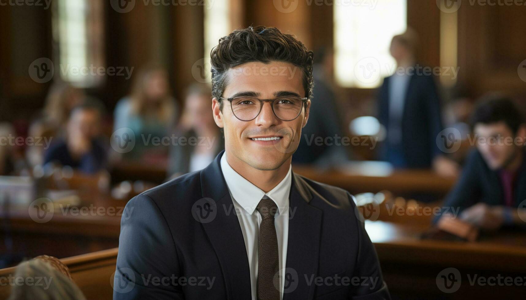
M318 271L322 212L309 204L307 183L294 172L292 180L283 299L312 299L314 286L308 283Z

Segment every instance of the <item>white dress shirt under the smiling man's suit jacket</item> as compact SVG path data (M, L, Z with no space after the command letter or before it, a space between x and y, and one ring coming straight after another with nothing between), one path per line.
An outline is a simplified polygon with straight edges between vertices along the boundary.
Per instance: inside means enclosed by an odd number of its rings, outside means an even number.
M256 300L257 278L258 278L258 235L261 215L256 206L264 195L267 195L278 206L278 214L274 217L276 235L278 237L280 299L283 299L283 287L285 284L285 266L287 261L287 241L289 233L289 192L292 183L292 167L289 172L274 189L265 193L256 185L246 180L237 173L227 162L226 152L221 157L221 171L234 203L235 212L241 225L241 231L245 239L245 247L250 267L250 283L252 299Z

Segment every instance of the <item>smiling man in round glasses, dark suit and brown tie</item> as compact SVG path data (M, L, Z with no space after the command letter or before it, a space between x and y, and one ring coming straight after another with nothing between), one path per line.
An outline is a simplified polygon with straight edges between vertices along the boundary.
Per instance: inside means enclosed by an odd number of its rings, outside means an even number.
M126 205L114 298L390 299L352 196L291 169L312 52L248 27L219 40L211 65L225 151Z

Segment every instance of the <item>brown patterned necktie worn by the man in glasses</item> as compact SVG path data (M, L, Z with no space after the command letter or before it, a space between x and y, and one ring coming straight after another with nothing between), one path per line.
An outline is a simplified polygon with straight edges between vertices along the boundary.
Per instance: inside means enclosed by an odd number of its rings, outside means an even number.
M267 195L256 207L261 214L258 247L258 300L279 300L279 253L274 215L278 206Z

